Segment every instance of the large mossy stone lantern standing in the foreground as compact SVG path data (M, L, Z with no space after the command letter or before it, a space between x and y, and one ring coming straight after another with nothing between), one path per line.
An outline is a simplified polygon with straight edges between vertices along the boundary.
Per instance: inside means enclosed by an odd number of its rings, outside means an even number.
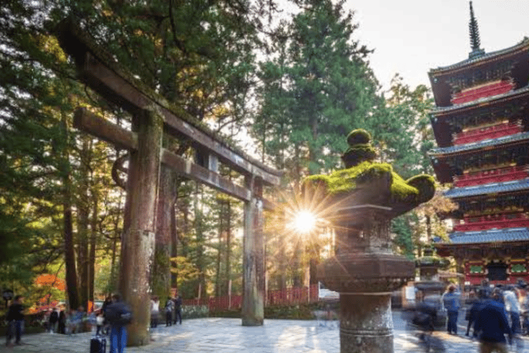
M318 266L318 280L340 293L340 352L393 352L391 292L415 277L415 263L393 254L391 219L428 201L431 176L404 180L375 163L371 136L354 130L345 169L314 175L304 192L325 203L336 234L335 256Z

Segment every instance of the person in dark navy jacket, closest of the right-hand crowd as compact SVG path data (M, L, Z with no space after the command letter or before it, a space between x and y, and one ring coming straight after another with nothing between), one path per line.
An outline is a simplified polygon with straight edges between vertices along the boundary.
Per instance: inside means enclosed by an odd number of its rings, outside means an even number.
M501 302L501 290L499 288L492 291L492 299L488 299L477 313L474 329L479 339L480 353L508 352L505 334L508 335L509 344L511 344L512 331L507 319L505 305Z

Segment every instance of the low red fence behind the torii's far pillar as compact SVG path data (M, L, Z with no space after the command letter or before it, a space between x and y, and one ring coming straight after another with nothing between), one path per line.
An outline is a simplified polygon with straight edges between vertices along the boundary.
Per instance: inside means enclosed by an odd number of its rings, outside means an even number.
M269 290L264 305L296 305L318 301L318 285L310 287L287 288L286 290ZM227 309L240 309L242 296L212 296L209 299L185 299L183 305L206 305L210 312Z

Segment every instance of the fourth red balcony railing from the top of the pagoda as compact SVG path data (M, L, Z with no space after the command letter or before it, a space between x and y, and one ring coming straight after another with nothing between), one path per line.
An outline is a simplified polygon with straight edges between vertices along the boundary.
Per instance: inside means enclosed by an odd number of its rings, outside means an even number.
M487 216L466 217L454 225L454 232L477 232L492 228L529 227L529 216L526 213L494 214Z

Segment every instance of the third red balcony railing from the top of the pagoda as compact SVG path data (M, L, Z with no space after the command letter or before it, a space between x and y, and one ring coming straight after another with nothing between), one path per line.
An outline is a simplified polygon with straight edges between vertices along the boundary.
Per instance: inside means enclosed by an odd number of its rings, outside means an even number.
M523 165L457 175L454 176L453 183L455 187L463 188L465 186L488 183L502 183L504 181L525 179L527 177L529 177L529 168L527 165Z

